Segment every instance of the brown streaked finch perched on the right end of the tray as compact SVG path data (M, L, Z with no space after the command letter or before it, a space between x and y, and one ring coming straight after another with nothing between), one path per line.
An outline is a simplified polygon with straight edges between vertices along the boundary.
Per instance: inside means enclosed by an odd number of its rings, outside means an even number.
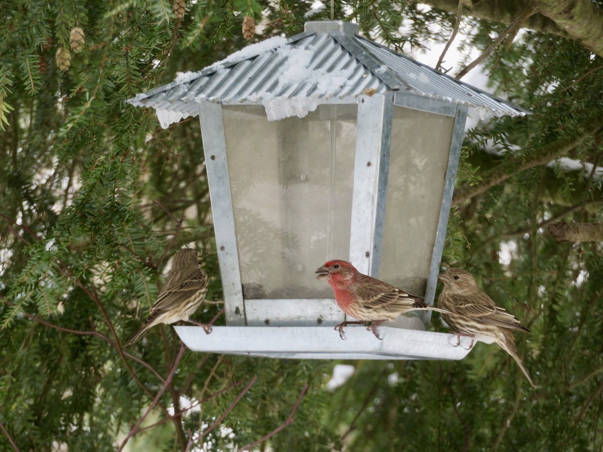
M528 378L529 384L535 388L534 380L529 376L523 362L517 354L513 330L529 333L528 328L520 325L519 319L513 314L496 306L473 279L464 270L450 268L440 276L444 289L438 298L438 306L452 312L454 315L443 314L444 321L458 336L469 336L475 341L486 344L496 344L510 354ZM460 342L460 338L459 338ZM472 341L473 346L473 341Z

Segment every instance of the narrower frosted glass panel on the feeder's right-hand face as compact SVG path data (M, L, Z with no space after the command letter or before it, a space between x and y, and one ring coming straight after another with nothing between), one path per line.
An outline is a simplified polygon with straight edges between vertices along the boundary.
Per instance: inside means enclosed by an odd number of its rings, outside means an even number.
M394 108L380 278L425 295L454 118Z

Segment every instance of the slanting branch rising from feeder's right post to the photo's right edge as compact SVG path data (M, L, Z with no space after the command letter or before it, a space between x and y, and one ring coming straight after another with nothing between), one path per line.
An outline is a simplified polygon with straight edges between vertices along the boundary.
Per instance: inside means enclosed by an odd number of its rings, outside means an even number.
M528 162L523 162L521 156L511 157L508 162L501 163L490 171L485 172L484 175L482 175L482 181L479 185L464 185L456 189L452 197L452 206L456 206L467 199L471 199L473 196L480 195L490 187L500 184L520 172L537 166L546 165L547 163L552 162L552 160L558 159L562 155L567 154L567 152L581 145L589 137L593 136L593 134L598 133L598 131L601 130L602 125L603 118L596 118L590 123L590 127L586 128L581 136L577 138L563 137L548 145L542 146L540 149L534 151L531 160L528 160Z

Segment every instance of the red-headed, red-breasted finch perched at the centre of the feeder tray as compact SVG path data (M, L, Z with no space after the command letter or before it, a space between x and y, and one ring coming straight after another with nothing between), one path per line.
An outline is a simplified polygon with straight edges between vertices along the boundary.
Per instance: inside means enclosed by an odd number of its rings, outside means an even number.
M361 322L341 322L335 330L343 339L343 328L347 324L373 322L368 328L377 339L381 339L376 327L400 314L413 310L432 310L447 313L446 310L433 307L396 286L363 275L345 260L329 260L317 269L317 280L326 280L333 288L335 301L343 312Z

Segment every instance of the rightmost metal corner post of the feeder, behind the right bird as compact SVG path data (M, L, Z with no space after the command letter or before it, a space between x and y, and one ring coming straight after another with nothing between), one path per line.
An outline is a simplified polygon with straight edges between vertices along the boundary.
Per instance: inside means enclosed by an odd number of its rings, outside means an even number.
M429 278L425 290L425 301L433 304L435 298L435 288L438 283L438 274L440 273L440 263L442 252L444 251L444 240L446 239L446 227L450 215L450 203L452 202L452 193L456 183L456 172L458 171L458 161L461 157L461 146L463 145L463 135L465 131L465 121L467 119L467 106L457 105L454 128L452 131L452 142L450 143L450 154L448 157L448 169L446 171L446 180L444 181L444 193L442 195L442 204L440 207L440 220L438 221L438 230L435 233L434 253L431 255L431 266L429 267ZM423 312L423 321L429 324L431 311Z

